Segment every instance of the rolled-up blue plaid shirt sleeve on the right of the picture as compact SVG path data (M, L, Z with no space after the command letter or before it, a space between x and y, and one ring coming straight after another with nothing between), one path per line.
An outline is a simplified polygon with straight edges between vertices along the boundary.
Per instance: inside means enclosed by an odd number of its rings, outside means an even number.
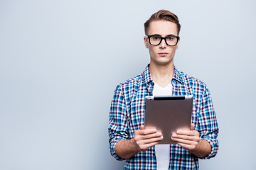
M201 98L200 113L198 116L198 132L201 139L210 143L211 152L201 159L210 159L215 157L218 152L218 123L213 109L213 102L210 97L210 91L206 88Z

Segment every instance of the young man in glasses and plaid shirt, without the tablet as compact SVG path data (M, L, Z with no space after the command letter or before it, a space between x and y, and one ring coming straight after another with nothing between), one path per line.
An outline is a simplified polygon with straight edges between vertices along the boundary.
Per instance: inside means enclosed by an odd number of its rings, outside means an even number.
M137 77L117 86L110 108L110 152L126 159L124 169L198 169L198 158L218 152L218 125L206 84L179 72L174 55L181 25L170 11L158 11L144 23L150 64ZM144 128L144 98L151 95L193 95L190 130L171 135L176 145L157 145L156 129Z

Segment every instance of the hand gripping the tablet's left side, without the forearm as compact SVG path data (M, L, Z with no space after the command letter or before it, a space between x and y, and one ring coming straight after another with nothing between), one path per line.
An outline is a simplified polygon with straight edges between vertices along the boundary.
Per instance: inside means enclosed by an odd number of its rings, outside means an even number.
M145 129L144 125L134 132L134 145L139 152L158 144L163 139L161 132L157 132L156 129Z

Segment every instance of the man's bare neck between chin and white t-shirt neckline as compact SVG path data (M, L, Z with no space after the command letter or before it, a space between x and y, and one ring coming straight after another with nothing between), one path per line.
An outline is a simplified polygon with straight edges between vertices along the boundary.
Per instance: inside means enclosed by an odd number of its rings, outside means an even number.
M174 77L174 63L170 62L169 64L159 65L154 62L150 62L149 70L152 76L153 81L159 86L165 87Z

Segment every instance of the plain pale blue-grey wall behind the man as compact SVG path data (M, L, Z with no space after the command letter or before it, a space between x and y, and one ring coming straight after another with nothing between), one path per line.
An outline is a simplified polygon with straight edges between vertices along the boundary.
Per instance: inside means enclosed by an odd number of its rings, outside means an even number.
M178 69L208 84L220 149L201 169L256 169L255 1L0 1L0 169L122 169L117 84L149 62L143 23L176 13Z

